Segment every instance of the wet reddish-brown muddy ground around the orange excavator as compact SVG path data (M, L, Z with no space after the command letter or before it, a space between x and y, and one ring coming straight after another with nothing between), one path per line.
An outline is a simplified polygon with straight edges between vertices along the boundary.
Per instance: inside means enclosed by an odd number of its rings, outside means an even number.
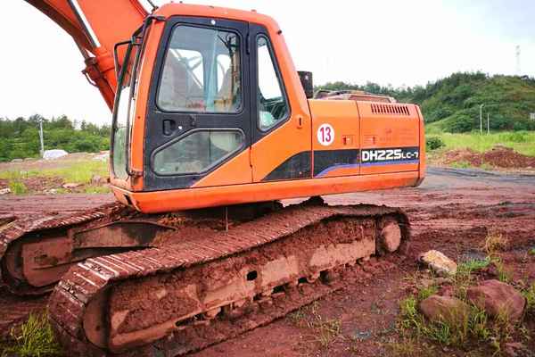
M421 187L325 198L332 204L374 203L405 209L413 228L407 256L372 262L363 277L344 290L292 317L196 353L196 357L391 355L391 346L399 341L395 323L399 300L414 289L411 277L422 270L416 256L429 249L456 260L480 256L490 230L511 242L502 258L513 281L535 281L535 257L528 254L535 248L535 176L431 168ZM0 197L0 213L78 211L111 201L111 195ZM27 311L44 307L45 298L21 300L0 290L0 331L13 320L23 319ZM336 333L326 344L325 331L310 327L310 319L336 322ZM535 328L532 323L530 326ZM533 342L533 330L531 336ZM530 347L535 349L535 345ZM460 356L465 352L431 345L420 355Z

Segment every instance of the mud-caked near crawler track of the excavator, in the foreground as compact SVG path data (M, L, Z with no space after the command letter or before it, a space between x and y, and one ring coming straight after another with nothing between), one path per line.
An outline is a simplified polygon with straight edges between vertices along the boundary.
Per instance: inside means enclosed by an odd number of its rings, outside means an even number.
M301 203L228 232L80 262L54 289L50 320L70 355L190 353L342 287L338 276L404 249L409 235L398 209Z

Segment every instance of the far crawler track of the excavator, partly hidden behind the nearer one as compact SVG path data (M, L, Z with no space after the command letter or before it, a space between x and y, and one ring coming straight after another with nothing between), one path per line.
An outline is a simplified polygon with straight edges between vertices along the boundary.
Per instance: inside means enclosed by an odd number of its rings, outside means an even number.
M144 214L121 203L70 215L0 216L0 271L15 295L43 295L72 265L87 258L139 250L181 239L192 231L225 229L252 220L280 203L233 206L166 214ZM236 219L235 217L239 217ZM178 230L178 232L176 232Z

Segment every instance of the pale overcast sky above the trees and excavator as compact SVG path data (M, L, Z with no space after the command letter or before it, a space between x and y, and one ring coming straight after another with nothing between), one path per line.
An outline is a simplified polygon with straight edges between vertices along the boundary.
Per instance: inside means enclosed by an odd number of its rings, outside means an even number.
M155 0L156 4L163 1ZM454 71L535 75L532 0L197 0L255 9L279 22L298 70L316 84L425 85ZM109 123L98 91L80 74L72 39L22 0L2 1L0 117L66 114Z

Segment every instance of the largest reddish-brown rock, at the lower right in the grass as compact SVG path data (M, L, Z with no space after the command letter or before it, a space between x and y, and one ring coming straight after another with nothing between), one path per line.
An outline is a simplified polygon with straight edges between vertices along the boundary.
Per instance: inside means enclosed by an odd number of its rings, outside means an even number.
M505 314L509 321L520 320L526 307L526 299L513 286L494 279L469 287L466 298L490 316Z

